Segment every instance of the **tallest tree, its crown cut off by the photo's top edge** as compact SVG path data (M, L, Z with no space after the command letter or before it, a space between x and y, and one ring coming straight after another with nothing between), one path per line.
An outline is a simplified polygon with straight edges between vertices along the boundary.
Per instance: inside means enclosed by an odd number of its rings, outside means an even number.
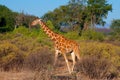
M104 18L107 18L108 12L112 10L112 5L107 3L107 0L70 0L72 7L81 6L81 13L79 13L79 22L82 23L81 29L86 30L89 27L95 27L97 25L104 25ZM78 4L78 5L76 5ZM73 8L73 10L77 10ZM79 9L80 10L80 9ZM75 12L74 11L74 12ZM80 12L80 11L79 11Z

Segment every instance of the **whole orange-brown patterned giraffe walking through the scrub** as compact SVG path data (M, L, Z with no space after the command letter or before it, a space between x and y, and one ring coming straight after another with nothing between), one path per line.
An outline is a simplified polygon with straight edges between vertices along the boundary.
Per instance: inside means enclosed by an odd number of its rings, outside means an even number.
M65 62L67 64L67 68L69 73L71 74L73 72L77 57L80 60L80 54L79 54L79 45L73 41L65 38L64 36L53 32L49 27L42 21L42 19L35 19L31 26L40 25L43 31L48 35L48 37L51 38L51 40L54 42L54 48L55 48L55 61L54 65L56 64L58 54L62 54ZM66 54L71 54L71 58L73 61L72 69L70 69L70 65L68 62L68 58Z

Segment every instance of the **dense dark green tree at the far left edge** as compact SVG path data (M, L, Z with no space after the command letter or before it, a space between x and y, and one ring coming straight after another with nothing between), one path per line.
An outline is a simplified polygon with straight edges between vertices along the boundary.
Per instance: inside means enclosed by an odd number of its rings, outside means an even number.
M11 31L14 29L15 13L6 6L0 5L0 32Z

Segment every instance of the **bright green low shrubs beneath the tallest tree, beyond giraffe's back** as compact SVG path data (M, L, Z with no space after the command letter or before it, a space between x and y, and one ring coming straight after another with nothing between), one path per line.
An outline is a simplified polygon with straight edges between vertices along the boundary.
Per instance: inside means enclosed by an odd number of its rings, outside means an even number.
M81 32L81 36L76 31L71 31L64 34L69 39L74 40L92 40L92 41L104 41L105 36L101 32L95 30L86 30Z

